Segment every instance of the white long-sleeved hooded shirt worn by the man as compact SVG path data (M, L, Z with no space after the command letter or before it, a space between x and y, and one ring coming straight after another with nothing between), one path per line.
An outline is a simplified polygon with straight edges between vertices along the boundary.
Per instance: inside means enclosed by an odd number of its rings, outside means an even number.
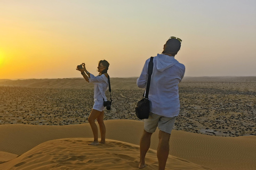
M150 58L146 61L137 79L139 88L147 87L149 61ZM185 66L173 56L164 54L157 54L153 59L153 64L148 94L150 112L165 117L178 116L180 112L178 84L184 77Z

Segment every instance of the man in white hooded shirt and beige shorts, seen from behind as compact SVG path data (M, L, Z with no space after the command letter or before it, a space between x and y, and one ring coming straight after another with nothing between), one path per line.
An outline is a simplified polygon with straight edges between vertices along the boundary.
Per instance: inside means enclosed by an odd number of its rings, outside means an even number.
M150 147L151 135L157 126L159 143L157 148L158 169L165 169L169 155L169 139L176 117L180 111L178 84L185 74L185 66L174 59L179 52L181 39L170 37L164 45L162 54L153 60L148 99L150 101L149 118L145 119L144 131L140 140L139 168L146 167L145 156ZM139 88L147 87L148 63L146 61L140 77L137 79Z

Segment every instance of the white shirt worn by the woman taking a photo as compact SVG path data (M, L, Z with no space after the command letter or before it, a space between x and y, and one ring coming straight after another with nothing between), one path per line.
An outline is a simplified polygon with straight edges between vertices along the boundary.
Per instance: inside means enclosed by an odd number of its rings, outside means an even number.
M108 88L108 78L104 74L95 77L90 73L89 83L94 84L94 101L107 101L105 91Z

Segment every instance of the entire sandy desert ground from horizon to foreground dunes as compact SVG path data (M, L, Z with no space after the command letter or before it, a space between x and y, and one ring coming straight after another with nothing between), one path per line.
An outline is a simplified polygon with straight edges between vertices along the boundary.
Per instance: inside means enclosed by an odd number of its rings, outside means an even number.
M88 146L93 86L81 78L0 80L0 169L138 169L137 78L112 78L106 145ZM166 169L255 169L256 77L185 77ZM109 92L106 91L109 97ZM157 132L147 167L157 169Z

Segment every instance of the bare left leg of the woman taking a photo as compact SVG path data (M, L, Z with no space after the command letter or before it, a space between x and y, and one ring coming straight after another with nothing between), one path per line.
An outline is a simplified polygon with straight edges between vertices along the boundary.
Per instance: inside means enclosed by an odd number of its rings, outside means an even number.
M93 133L93 137L94 137L94 140L93 140L93 142L90 145L99 145L99 141L98 141L98 127L97 127L97 124L95 123L95 119L97 117L99 117L100 114L101 114L100 111L92 109L91 114L88 117L88 122L91 125L92 133Z

